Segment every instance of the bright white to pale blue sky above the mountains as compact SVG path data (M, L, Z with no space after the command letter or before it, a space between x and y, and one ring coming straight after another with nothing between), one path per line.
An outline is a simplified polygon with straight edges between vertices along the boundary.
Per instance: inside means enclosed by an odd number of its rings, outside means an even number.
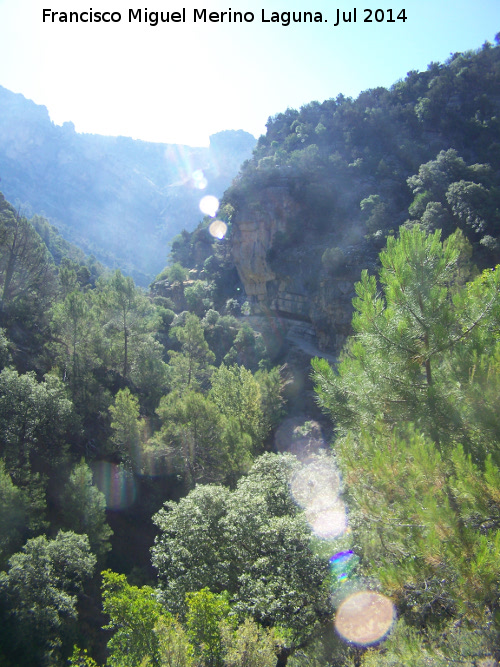
M42 20L44 9L59 12L54 22ZM138 9L143 21L129 21ZM146 11L183 9L184 22L144 21ZM227 14L194 21L203 9ZM337 12L353 19L354 9L356 22L335 25ZM57 20L90 10L121 20ZM323 21L285 26L281 14L294 11ZM254 20L228 22L235 12ZM289 107L389 87L410 70L494 43L499 31L500 0L0 0L0 85L78 132L206 146L221 130L259 136L269 116Z

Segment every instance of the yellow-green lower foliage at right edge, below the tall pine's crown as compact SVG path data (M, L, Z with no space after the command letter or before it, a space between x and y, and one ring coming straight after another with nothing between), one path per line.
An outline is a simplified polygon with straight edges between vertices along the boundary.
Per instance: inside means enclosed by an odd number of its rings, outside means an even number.
M482 470L460 445L444 457L410 426L379 425L338 441L337 451L363 556L400 608L420 623L448 613L489 624L500 577L500 477L491 460Z

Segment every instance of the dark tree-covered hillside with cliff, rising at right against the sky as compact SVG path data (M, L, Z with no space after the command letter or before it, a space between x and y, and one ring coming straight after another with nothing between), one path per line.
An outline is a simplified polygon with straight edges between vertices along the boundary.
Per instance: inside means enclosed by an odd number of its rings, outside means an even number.
M254 312L309 323L323 349L350 333L354 284L406 220L460 228L498 261L500 49L457 53L390 89L269 119L226 191L232 258ZM174 244L201 268L205 225Z

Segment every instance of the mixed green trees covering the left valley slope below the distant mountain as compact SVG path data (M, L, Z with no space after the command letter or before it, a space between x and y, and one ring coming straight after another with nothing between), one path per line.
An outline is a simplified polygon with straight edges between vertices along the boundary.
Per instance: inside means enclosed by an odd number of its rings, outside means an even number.
M235 487L282 379L236 302L174 281L193 311L176 313L0 203L2 660L56 665L77 640L99 654L96 564L149 580L151 515L197 483Z

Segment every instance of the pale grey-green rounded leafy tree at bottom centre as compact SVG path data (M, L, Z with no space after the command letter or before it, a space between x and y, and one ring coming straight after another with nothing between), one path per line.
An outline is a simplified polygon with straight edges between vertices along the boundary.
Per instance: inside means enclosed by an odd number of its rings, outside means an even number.
M228 591L242 619L280 625L292 642L328 616L327 562L313 554L290 495L297 465L291 456L264 455L234 491L198 486L155 515L152 560L168 609L185 613L189 591Z

